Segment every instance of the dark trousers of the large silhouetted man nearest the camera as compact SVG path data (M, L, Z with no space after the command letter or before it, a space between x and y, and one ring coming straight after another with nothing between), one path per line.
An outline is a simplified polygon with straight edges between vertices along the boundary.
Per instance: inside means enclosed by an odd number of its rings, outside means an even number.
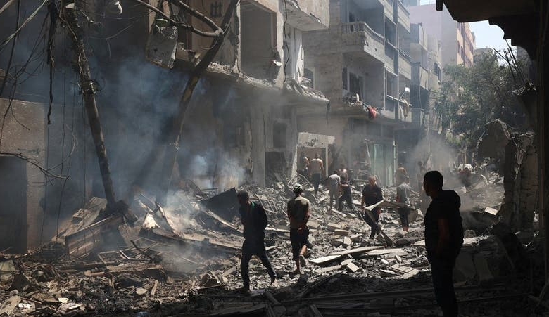
M431 264L433 287L436 303L441 306L444 317L457 316L457 300L455 299L453 269L455 257L435 257L427 254Z

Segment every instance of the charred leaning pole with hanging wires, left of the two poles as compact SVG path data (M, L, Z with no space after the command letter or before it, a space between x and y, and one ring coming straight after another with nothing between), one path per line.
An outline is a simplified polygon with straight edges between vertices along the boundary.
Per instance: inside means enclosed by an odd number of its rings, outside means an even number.
M99 110L97 110L94 96L94 81L92 80L92 75L89 71L89 64L82 36L83 30L78 23L75 2L70 0L61 1L60 13L65 21L65 25L68 27L68 34L75 49L79 72L78 79L84 98L84 107L86 108L88 116L89 129L92 130L92 138L94 139L95 151L97 159L99 160L99 170L101 171L101 179L103 181L103 188L107 199L106 214L111 214L117 209L113 180L111 179L111 170L108 167L105 138L103 137L103 129L101 128L101 122L99 121Z

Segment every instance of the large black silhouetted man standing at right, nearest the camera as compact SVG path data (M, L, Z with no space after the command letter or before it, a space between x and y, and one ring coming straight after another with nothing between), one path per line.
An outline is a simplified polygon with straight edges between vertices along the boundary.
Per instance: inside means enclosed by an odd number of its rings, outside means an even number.
M460 196L453 190L443 190L443 176L438 171L427 172L423 178L425 193L432 198L425 213L425 248L431 264L436 302L445 317L457 316L452 273L455 259L463 245Z

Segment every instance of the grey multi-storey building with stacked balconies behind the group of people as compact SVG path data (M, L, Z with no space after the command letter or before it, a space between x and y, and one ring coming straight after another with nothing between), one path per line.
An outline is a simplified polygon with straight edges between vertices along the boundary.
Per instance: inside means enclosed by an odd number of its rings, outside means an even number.
M335 136L340 162L392 184L395 134L412 123L409 13L398 0L330 1L329 11L329 29L304 40L305 73L329 109L301 110L298 129Z

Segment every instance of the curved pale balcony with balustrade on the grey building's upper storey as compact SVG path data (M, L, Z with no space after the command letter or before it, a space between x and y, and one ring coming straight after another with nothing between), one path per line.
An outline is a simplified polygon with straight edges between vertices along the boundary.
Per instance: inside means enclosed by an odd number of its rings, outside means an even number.
M380 61L384 60L384 37L365 22L341 24L343 51L364 51Z

